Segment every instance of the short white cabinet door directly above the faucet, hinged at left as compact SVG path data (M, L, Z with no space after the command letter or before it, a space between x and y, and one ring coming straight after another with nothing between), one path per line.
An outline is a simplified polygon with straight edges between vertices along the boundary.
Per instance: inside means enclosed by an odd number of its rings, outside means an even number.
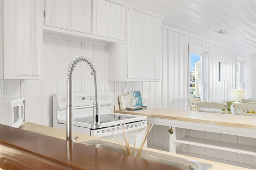
M45 0L45 25L91 33L92 0Z

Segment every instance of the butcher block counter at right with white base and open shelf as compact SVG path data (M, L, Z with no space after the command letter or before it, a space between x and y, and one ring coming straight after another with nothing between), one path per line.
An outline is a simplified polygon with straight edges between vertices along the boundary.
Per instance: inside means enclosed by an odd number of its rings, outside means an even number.
M205 139L203 135L198 135L197 137L186 135L186 129L192 129L211 133L236 135L237 137L248 137L251 138L252 141L255 141L256 116L153 108L133 111L115 110L114 112L144 115L148 117L148 123L168 126L169 131L172 132L169 135L169 151L173 153L177 151L176 146L194 145L256 156L255 145L248 144L246 141L241 140L234 143L233 141L221 141L220 139ZM182 147L182 152L187 152L186 147Z

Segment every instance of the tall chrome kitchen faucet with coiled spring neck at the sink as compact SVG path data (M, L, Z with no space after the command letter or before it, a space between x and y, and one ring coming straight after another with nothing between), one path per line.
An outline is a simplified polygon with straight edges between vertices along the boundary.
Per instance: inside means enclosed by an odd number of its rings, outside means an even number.
M95 90L95 102L92 105L88 106L80 106L80 107L74 107L73 106L73 70L76 67L76 65L80 62L84 61L87 63L87 65L91 69L91 74L94 76L94 90ZM97 127L100 124L100 104L98 102L97 97L97 83L96 83L96 74L97 70L92 63L92 61L83 55L79 55L75 57L68 68L68 77L67 77L67 105L66 105L66 113L67 113L67 119L66 119L66 137L67 141L75 141L77 139L74 138L74 109L78 108L86 108L86 107L93 107L93 127Z

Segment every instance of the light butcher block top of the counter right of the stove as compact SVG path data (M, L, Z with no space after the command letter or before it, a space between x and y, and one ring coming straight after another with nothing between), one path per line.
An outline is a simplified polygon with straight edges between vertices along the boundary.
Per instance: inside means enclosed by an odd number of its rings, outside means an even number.
M114 112L132 115L144 115L147 117L159 119L170 119L211 125L223 125L230 127L256 129L256 116L153 108L138 109L134 111L115 110Z

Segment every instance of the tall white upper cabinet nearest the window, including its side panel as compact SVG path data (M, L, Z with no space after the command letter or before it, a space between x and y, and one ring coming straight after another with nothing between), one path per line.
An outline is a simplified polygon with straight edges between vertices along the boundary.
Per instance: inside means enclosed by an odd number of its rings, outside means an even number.
M109 81L160 81L162 18L128 10L128 43L108 46Z

